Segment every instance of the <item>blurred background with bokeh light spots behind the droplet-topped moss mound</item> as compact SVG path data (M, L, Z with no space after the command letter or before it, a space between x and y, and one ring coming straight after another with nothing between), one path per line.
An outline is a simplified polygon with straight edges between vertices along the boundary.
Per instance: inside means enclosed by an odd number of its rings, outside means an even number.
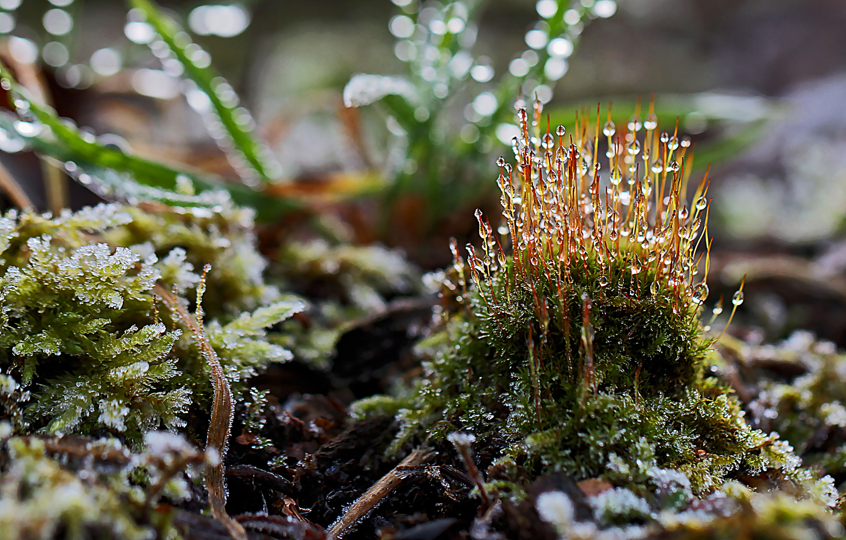
M244 121L281 166L272 191L331 209L343 239L398 246L424 269L448 264L448 238L470 237L475 207L495 207L493 164L511 152L520 96L569 126L597 102L614 103L618 124L643 117L655 95L665 129L678 118L692 140L692 174L711 166L709 301L746 275L734 333L761 343L808 328L846 344L846 3L162 6L200 46L195 61L213 63L252 113ZM183 66L157 54L151 27L128 11L118 0L0 0L5 53L36 63L47 101L104 143L236 178ZM354 85L356 74L404 79L385 91L390 81ZM345 88L361 107L345 106ZM402 104L370 105L404 92L418 95L405 115ZM4 137L0 150L41 210L98 200L67 181L55 201L37 157ZM260 236L272 245L280 234L289 230L266 224Z

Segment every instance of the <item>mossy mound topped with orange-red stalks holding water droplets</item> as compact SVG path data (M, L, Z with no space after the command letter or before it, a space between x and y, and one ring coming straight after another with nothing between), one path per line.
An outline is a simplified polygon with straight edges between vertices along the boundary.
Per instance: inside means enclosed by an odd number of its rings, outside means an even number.
M658 509L764 472L834 493L708 376L708 287L697 278L708 182L688 206L689 140L660 131L652 113L622 132L610 120L600 129L597 114L593 135L584 114L573 135L541 132L539 103L534 118L518 116L516 166L497 160L502 218L476 212L481 247L466 259L453 242L441 330L418 346L424 375L354 409L396 411L393 451L455 431L498 444L487 485L518 496L552 472L600 477ZM601 137L610 174L597 162Z

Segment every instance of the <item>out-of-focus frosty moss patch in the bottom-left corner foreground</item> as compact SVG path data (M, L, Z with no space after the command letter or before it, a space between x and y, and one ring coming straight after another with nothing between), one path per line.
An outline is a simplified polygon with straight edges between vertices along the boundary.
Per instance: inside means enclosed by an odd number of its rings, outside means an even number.
M133 453L113 438L9 438L0 422L0 537L176 537L160 499L190 499L203 452L170 433L146 434ZM187 467L187 471L184 471Z

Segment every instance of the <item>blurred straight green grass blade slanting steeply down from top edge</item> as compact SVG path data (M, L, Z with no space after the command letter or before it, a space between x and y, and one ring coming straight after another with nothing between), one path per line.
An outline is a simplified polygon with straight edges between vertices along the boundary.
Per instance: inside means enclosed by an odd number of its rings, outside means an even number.
M156 4L149 0L129 0L146 17L162 37L171 52L182 63L185 74L197 86L193 91L201 91L211 105L208 113L216 115L225 134L212 134L217 138L222 149L227 152L229 161L248 185L258 185L277 180L281 168L270 155L266 146L255 138L250 113L238 107L238 96L226 80L209 67L208 53L192 43L190 36L179 24L163 14ZM199 96L197 101L204 100Z

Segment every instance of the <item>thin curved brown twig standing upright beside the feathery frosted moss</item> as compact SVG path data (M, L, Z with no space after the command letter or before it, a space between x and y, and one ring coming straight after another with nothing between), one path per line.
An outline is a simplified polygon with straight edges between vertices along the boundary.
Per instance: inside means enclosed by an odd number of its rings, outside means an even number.
M206 272L207 270L208 265L206 265ZM200 287L197 290L197 306L200 306L202 290L205 289L206 272L203 273L203 279L201 279ZM206 466L206 490L209 493L211 513L217 521L220 521L226 526L229 535L235 540L246 540L247 533L244 532L244 527L226 513L226 480L223 475L223 459L226 457L229 430L232 427L232 416L234 412L232 388L229 388L229 383L223 373L217 353L211 347L211 344L209 344L206 330L201 323L201 307L197 308L198 313L197 317L195 317L189 313L188 309L177 299L176 295L173 295L173 293L164 289L161 285L156 285L153 288L153 292L159 295L165 306L168 306L170 311L179 317L184 325L188 327L191 335L200 347L203 359L211 370L214 399L211 404L209 432L206 436L206 452L209 449L214 449L217 455L220 456L220 459L217 461L217 465Z

